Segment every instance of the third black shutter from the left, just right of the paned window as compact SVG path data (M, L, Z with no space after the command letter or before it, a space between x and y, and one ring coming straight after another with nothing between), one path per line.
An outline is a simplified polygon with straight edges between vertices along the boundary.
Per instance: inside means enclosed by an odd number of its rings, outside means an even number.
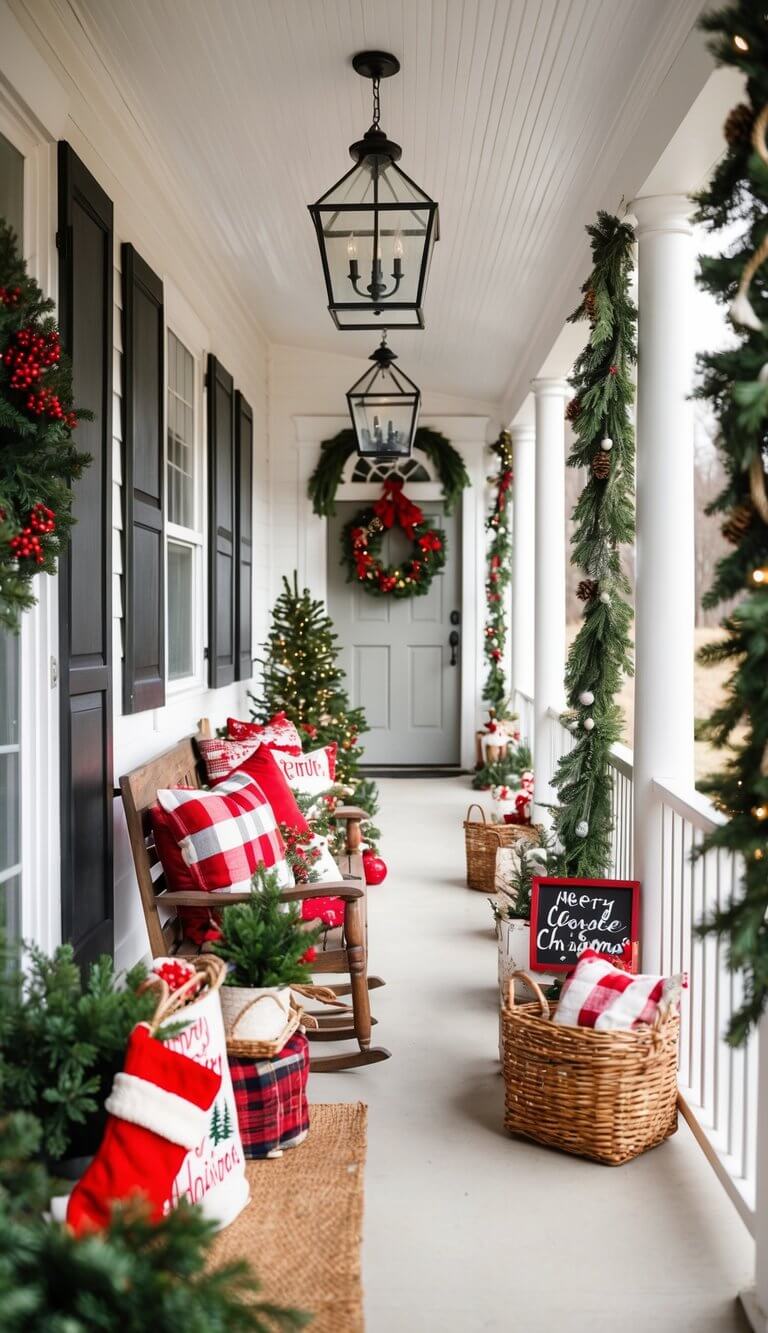
M235 680L235 392L208 357L208 684Z

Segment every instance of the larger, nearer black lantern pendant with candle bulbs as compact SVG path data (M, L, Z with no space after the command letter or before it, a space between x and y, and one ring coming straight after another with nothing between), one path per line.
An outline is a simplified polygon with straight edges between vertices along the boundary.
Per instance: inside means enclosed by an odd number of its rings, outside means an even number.
M349 153L355 167L316 204L328 309L340 329L424 328L424 289L439 239L437 204L397 167L400 144L379 124L379 84L400 61L364 51L352 64L373 83L373 123Z

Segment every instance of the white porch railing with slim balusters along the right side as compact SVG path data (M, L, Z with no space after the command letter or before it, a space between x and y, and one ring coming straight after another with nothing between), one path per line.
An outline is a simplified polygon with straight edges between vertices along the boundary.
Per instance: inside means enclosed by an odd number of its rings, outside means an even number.
M517 708L527 718L532 700L517 693ZM548 744L544 761L549 773L575 745L575 737L548 709ZM532 729L521 726L524 737ZM539 760L540 762L540 760ZM633 772L632 752L615 746L613 768L613 857L611 874L632 876ZM665 973L687 972L688 990L680 1030L681 1110L693 1134L715 1168L744 1222L755 1233L755 1190L757 1172L757 1037L733 1050L724 1033L741 998L740 978L725 962L725 946L716 938L700 940L696 925L728 901L737 888L739 861L725 852L708 852L697 861L691 852L699 846L723 817L712 804L693 792L679 792L663 782L653 784L656 801L652 817L661 822L659 881L644 885L659 893L661 912L661 958Z

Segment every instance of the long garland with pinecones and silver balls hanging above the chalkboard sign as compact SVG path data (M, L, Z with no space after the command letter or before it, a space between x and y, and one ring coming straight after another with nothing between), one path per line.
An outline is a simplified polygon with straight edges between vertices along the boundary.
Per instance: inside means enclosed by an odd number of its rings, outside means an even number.
M572 381L575 397L565 409L576 436L568 467L589 477L573 509L571 563L584 577L579 597L584 620L568 653L565 725L576 733L573 749L557 765L553 784L559 805L555 829L563 846L563 873L605 876L611 864L613 777L611 746L621 736L615 696L632 672L629 584L621 571L621 545L635 536L635 432L629 408L637 359L637 312L629 299L632 228L609 213L597 213L587 232L593 269L571 321L588 320L589 341Z

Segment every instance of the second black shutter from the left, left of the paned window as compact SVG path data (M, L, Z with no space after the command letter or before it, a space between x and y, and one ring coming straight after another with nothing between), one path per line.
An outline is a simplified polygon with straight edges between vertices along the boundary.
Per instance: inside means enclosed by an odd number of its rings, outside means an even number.
M124 633L123 712L165 702L163 283L123 245Z

